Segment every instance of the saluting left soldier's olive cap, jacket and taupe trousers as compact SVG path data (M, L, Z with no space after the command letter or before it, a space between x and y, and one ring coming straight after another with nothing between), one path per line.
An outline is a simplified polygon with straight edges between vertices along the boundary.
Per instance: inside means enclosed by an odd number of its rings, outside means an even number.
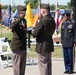
M17 10L26 11L25 6L17 6ZM13 70L14 75L24 75L26 64L26 20L24 16L16 16L12 21L10 28L13 37L11 40L11 49L13 51Z

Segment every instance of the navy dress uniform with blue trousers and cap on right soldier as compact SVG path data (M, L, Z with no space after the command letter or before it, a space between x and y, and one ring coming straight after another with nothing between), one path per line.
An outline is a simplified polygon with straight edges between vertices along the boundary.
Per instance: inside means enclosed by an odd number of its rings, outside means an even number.
M63 48L65 72L64 73L73 73L73 61L74 53L73 47L76 44L76 23L70 19L70 13L65 13L64 18L69 17L65 20L61 26L61 41Z

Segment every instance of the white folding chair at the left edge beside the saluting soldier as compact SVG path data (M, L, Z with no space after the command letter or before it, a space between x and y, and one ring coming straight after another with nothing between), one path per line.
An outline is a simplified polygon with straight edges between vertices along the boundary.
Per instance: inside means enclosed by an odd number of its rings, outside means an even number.
M2 48L3 46L7 46L7 50L6 51L3 51L3 48ZM9 54L12 55L12 51L10 49L9 43L8 42L3 42L0 39L0 67L1 68L4 68L4 65L6 65L6 66L9 65L9 61L8 61ZM7 59L6 59L6 62L5 63L3 63L3 60L1 58L1 55L6 55L7 56Z

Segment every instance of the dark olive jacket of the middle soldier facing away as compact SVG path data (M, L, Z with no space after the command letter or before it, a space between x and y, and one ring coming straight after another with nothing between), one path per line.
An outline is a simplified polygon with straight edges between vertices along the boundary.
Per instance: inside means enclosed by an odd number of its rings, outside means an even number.
M33 37L36 38L36 52L44 53L44 52L53 52L53 40L52 35L55 30L55 21L49 15L42 17L37 23Z

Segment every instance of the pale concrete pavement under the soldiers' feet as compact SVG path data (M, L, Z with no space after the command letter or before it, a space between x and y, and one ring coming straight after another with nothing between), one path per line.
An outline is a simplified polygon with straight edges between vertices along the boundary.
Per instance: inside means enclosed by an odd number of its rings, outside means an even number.
M37 59L34 59L34 62L36 63L35 65L27 64L25 75L40 75ZM1 68L0 75L13 75L12 67L7 67L4 69ZM52 75L69 75L69 74L64 74L64 62L62 58L52 59ZM76 65L75 65L74 73L70 75L76 75Z

